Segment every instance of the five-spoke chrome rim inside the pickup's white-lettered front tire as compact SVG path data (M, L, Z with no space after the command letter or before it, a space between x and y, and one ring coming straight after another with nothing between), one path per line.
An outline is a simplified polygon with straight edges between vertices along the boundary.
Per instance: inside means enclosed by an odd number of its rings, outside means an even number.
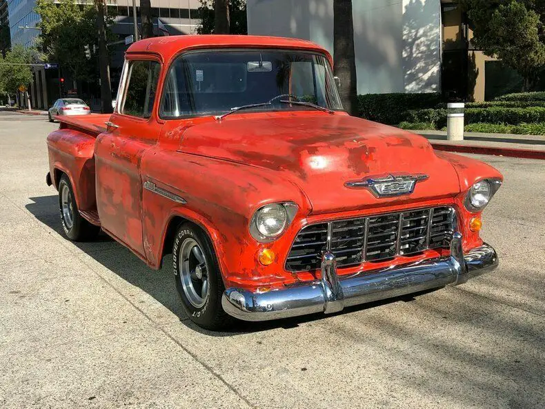
M195 239L185 239L180 246L180 279L188 301L201 308L208 299L208 266L204 252Z

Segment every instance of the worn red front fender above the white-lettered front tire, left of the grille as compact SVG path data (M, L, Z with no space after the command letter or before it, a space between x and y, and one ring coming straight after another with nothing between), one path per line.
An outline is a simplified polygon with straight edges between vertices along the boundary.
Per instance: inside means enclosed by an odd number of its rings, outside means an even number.
M167 229L179 216L201 226L214 246L226 286L269 286L293 282L290 272L261 266L257 252L265 245L250 235L248 224L255 210L266 203L294 201L298 217L310 212L301 190L270 170L210 159L182 152L147 152L142 160L143 183L151 181L186 201L143 190L143 237L151 266L159 266ZM295 224L295 223L294 223ZM268 248L284 254L291 243L290 226ZM289 243L288 243L289 242Z

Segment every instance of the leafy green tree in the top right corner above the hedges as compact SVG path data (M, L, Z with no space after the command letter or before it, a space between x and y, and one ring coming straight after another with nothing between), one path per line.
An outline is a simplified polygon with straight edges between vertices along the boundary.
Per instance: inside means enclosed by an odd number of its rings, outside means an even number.
M473 43L524 78L532 90L545 65L545 1L464 0L473 28Z

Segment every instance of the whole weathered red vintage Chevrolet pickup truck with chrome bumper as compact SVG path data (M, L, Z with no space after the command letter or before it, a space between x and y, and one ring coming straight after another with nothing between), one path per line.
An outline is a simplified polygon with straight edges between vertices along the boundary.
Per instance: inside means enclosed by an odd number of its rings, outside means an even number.
M262 321L466 282L502 183L485 163L343 111L324 48L183 36L126 52L111 115L57 117L47 183L66 236L172 252L192 321Z

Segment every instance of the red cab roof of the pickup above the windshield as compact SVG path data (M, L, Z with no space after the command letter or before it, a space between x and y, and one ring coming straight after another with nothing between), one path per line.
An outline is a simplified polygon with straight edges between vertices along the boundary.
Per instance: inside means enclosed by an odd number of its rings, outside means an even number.
M168 62L181 51L199 48L284 48L310 50L326 54L333 65L333 60L329 52L310 41L256 35L204 34L152 37L132 43L127 50L127 54L149 52L159 54L163 61Z

